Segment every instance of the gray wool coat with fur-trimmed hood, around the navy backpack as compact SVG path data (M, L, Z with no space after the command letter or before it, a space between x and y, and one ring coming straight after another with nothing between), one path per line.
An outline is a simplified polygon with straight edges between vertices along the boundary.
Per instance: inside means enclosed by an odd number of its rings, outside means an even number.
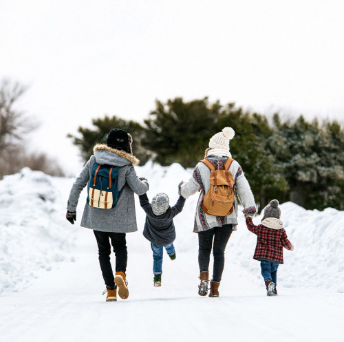
M76 211L80 193L87 186L94 162L100 165L107 164L120 167L118 170L118 189L122 189L122 186L124 188L113 209L105 210L86 203L80 226L95 231L114 233L137 231L134 193L137 195L146 193L148 184L141 182L136 175L133 165L138 164L137 158L125 151L111 149L104 144L98 144L94 147L94 155L76 178L69 194L67 210Z

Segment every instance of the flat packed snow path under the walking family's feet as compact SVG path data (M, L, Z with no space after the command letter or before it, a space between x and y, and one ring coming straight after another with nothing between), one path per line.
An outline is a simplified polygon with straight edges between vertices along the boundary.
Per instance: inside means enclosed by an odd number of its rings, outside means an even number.
M78 234L76 262L0 297L1 341L343 341L342 295L281 286L266 297L228 259L221 297L199 297L196 249L175 261L164 255L161 288L153 287L149 248L130 253L129 298L105 302L94 236Z

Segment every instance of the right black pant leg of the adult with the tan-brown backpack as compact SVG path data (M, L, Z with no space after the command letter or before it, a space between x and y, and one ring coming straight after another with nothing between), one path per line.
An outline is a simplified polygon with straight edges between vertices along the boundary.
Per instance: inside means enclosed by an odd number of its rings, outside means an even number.
M221 281L222 272L224 271L224 250L226 249L228 239L232 232L233 227L231 224L225 224L222 227L215 227L213 246L213 281Z

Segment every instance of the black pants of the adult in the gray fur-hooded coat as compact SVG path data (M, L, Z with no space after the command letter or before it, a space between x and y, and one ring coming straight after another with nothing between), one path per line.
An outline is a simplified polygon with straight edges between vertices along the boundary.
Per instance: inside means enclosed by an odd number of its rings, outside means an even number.
M105 285L113 288L115 286L114 272L112 272L110 254L111 245L114 248L116 257L116 272L127 270L127 245L125 241L125 233L109 233L94 231L98 244L99 264L103 273ZM111 245L110 241L111 240Z

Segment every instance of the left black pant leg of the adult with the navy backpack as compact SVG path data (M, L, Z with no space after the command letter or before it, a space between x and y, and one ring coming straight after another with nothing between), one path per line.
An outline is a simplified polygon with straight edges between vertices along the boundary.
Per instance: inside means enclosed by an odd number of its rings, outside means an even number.
M110 262L111 245L109 242L109 233L94 231L94 236L98 244L99 264L103 273L105 285L113 288L115 286L115 278Z

